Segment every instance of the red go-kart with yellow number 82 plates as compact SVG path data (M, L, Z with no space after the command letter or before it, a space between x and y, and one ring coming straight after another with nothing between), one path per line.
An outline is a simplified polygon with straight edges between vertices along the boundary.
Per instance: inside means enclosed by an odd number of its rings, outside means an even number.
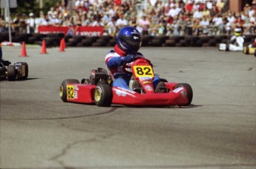
M128 65L128 64L126 64ZM127 90L121 87L112 87L112 75L102 68L91 71L90 79L66 79L59 87L59 96L63 102L96 104L108 107L114 105L133 106L188 106L193 98L193 91L189 84L170 83L162 79L163 93L156 93L152 84L154 71L151 63L144 58L135 60L131 66L123 65L124 70L132 73L134 81L140 87Z

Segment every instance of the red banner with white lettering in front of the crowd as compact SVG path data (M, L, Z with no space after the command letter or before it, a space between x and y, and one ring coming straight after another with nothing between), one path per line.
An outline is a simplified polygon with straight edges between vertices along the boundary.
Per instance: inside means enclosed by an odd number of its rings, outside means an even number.
M38 33L64 33L65 35L81 35L81 36L102 36L104 27L55 27L55 26L39 26Z

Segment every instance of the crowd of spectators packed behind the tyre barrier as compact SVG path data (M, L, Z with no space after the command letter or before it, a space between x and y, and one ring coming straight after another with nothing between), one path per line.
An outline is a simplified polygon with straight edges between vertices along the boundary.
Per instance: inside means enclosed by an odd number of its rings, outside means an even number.
M246 4L240 13L229 10L224 0L63 0L35 19L33 13L18 14L11 20L12 29L19 33L34 33L39 25L102 26L105 34L114 36L125 25L137 27L142 35L230 35L235 27L244 34L255 34L256 1ZM69 1L70 3L70 1ZM71 10L70 10L71 9ZM0 31L6 30L7 21L0 18ZM72 33L79 34L76 28Z

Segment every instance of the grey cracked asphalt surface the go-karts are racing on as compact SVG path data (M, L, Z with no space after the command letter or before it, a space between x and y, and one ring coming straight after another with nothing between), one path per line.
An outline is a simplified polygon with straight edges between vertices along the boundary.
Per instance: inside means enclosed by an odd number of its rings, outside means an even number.
M149 47L154 72L191 84L188 107L96 107L59 98L64 79L105 68L111 48L3 47L26 81L0 82L0 168L256 168L256 57Z

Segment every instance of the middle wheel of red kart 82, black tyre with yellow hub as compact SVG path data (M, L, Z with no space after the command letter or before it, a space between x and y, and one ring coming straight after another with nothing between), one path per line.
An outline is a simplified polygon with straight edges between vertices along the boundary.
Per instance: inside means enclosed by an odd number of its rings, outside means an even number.
M112 102L112 88L109 84L97 84L94 91L95 104L100 107L108 107Z

